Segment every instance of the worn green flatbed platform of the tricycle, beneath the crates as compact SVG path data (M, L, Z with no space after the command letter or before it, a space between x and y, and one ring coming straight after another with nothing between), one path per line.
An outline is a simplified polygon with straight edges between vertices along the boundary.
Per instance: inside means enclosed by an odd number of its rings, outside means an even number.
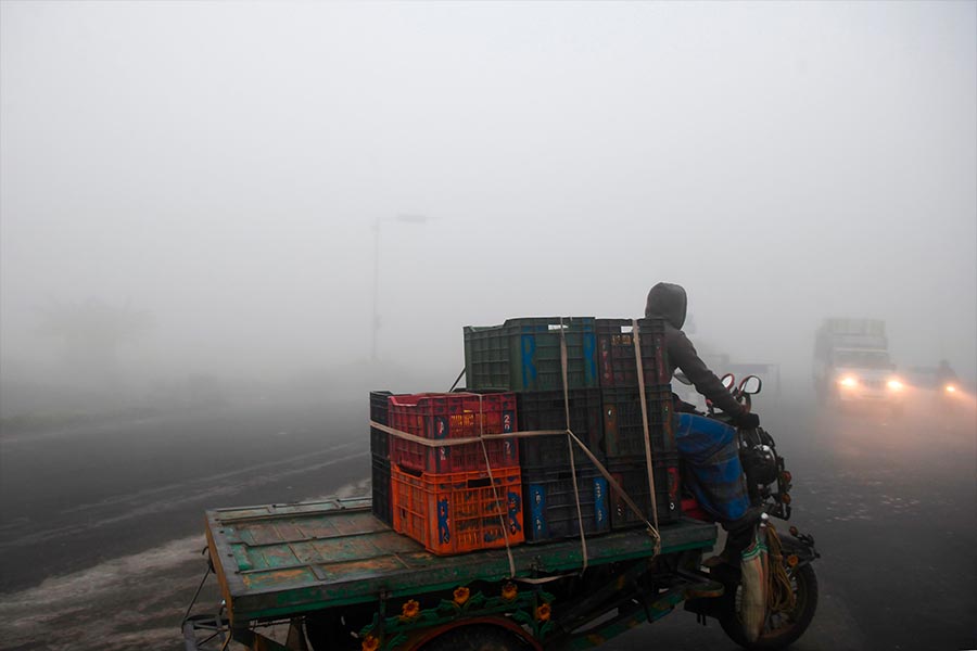
M452 589L509 576L506 550L439 557L370 512L370 498L207 511L207 545L231 622ZM711 549L715 526L683 520L661 527L662 552ZM517 576L578 570L579 539L512 547ZM587 538L588 564L648 557L644 529Z

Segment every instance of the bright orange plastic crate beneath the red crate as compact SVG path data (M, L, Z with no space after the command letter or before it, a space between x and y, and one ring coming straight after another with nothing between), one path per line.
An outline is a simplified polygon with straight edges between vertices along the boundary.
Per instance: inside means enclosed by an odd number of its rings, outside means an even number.
M506 534L510 546L521 544L519 474L518 468L493 470L490 478L487 472L414 474L392 467L393 528L442 556L505 547Z

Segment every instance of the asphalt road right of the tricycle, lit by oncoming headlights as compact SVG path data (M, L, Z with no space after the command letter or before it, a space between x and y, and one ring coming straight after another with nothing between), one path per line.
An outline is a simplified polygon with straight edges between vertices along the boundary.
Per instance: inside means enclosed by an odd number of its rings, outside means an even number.
M797 651L977 649L977 418L833 413L781 401L757 410L794 474L791 524L813 534L820 601ZM716 623L676 612L608 651L733 650Z

